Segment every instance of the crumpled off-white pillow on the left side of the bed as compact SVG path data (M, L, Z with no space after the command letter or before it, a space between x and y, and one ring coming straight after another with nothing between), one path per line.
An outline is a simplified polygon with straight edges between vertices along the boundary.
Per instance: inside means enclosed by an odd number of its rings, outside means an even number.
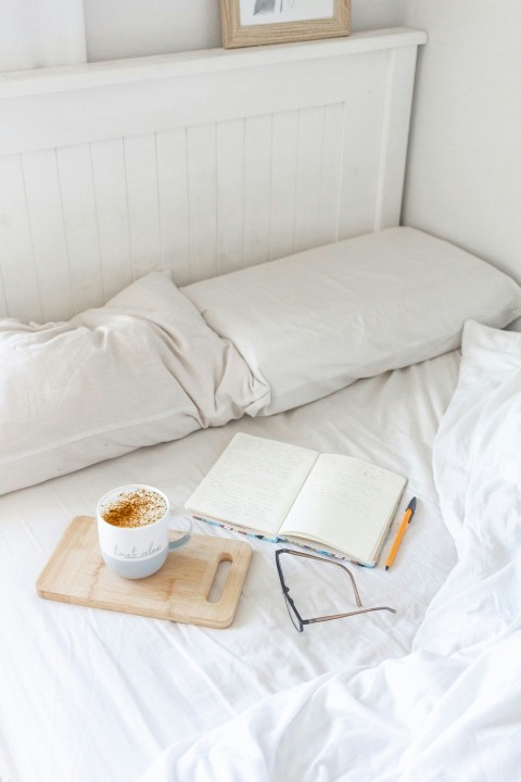
M0 320L0 494L218 426L269 399L164 274L45 326Z

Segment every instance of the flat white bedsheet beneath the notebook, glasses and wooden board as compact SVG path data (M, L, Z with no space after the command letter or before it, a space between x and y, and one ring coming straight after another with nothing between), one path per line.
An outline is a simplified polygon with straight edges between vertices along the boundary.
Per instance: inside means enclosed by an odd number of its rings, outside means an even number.
M263 728L258 740L264 734L271 741L279 720L282 730L298 704L308 697L318 704L323 692L329 693L326 714L320 719L315 714L313 723L300 730L300 748L308 735L323 735L329 746L338 730L331 732L331 715L343 711L344 697L356 697L353 690L347 693L348 677L339 671L346 666L351 672L361 671L382 660L387 668L377 670L396 670L456 562L439 512L431 449L458 365L459 353L449 353L358 381L293 412L199 431L0 497L0 753L13 781L132 782L168 746L189 746L198 734L232 718L247 726L250 718L241 717L245 709L274 704L270 696L287 690L296 699L280 696L277 724L269 724L268 732ZM382 564L373 570L354 568L365 605L384 602L397 609L396 616L377 613L296 633L280 592L275 546L255 540L238 613L227 630L69 606L36 595L35 581L73 516L93 514L106 490L132 481L163 488L182 506L241 430L348 453L409 476L401 510L416 494L418 512L395 567L389 572ZM233 537L202 522L195 531ZM297 578L303 590L309 588L306 608L321 613L328 586L338 590L323 569L314 573L303 560ZM317 578L323 588L317 588ZM342 597L339 609L346 609L344 605ZM373 686L367 676L360 673L357 680L363 688L364 681ZM322 689L321 683L336 677L340 690L336 684L334 692ZM285 711L283 704L289 704ZM271 708L267 706L266 714ZM360 719L366 718L363 712ZM296 724L302 728L302 722ZM385 733L387 728L380 724ZM233 736L229 746L236 746ZM262 758L260 753L259 762ZM323 771L313 780L333 778ZM171 779L191 782L198 777L190 772Z

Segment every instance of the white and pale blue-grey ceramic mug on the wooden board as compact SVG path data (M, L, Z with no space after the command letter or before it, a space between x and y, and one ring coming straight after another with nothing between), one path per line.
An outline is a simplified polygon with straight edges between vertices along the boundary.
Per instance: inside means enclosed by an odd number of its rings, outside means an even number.
M139 489L154 492L164 500L166 509L160 519L141 527L116 527L105 521L103 512L106 513L118 496ZM158 489L143 483L130 483L111 489L98 503L97 517L103 562L113 572L124 578L139 579L152 576L163 567L168 553L188 543L192 534L192 522L185 518L182 520L188 524L187 532L178 540L169 540L169 526L174 513L168 497Z

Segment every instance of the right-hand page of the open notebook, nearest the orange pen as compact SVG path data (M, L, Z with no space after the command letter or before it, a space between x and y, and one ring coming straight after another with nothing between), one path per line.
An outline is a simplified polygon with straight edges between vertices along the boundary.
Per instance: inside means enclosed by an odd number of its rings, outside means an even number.
M348 456L322 454L281 528L371 564L406 479Z

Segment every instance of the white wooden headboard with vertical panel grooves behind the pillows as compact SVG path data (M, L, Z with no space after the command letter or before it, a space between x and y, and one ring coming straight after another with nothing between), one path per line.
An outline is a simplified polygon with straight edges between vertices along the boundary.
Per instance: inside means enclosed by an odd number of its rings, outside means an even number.
M0 316L397 225L419 30L0 76Z

